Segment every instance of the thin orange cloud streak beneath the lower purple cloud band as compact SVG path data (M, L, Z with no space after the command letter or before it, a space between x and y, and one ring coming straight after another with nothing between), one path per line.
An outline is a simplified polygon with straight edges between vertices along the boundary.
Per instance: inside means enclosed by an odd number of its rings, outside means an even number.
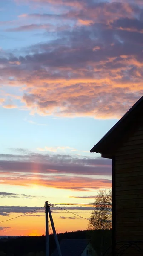
M50 175L50 173L49 173ZM22 175L1 176L0 184L11 184L14 186L45 186L56 189L68 189L79 191L92 191L101 188L111 187L111 180L107 179L94 179L89 177L72 177L72 176L49 176L49 175L30 175L23 177ZM36 177L35 177L36 176Z

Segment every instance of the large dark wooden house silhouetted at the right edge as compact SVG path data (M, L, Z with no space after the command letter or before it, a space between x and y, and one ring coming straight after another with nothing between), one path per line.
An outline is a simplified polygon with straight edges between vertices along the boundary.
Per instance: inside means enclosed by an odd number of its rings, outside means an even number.
M143 96L90 151L112 159L112 255L143 256Z

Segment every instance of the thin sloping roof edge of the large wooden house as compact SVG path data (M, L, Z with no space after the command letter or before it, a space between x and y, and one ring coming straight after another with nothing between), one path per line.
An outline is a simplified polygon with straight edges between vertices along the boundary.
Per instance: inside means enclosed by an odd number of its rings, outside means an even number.
M140 102L142 102L142 100L143 100L143 96L120 118L120 120L102 137L102 139L99 140L96 145L94 145L94 147L90 150L90 153L94 153L95 152L95 149L103 142L103 140L105 140L106 137L108 137L112 133L112 131L114 131L116 129L116 127L121 122L124 121L124 119L134 110L134 108L136 108L137 105L139 105Z

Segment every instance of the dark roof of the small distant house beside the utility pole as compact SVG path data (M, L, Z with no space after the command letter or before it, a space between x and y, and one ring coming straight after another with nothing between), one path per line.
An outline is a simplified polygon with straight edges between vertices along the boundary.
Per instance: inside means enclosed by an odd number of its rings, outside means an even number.
M87 239L62 239L60 242L62 256L80 256L89 242L90 240ZM57 249L51 256L58 256Z

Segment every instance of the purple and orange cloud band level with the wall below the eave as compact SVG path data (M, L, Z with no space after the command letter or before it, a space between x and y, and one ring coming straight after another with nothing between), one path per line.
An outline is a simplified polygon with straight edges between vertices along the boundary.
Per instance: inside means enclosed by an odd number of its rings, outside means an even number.
M23 152L23 151L22 151ZM0 183L57 189L96 190L111 186L108 159L62 154L0 154ZM2 192L2 196L6 196ZM23 196L9 194L7 196Z

